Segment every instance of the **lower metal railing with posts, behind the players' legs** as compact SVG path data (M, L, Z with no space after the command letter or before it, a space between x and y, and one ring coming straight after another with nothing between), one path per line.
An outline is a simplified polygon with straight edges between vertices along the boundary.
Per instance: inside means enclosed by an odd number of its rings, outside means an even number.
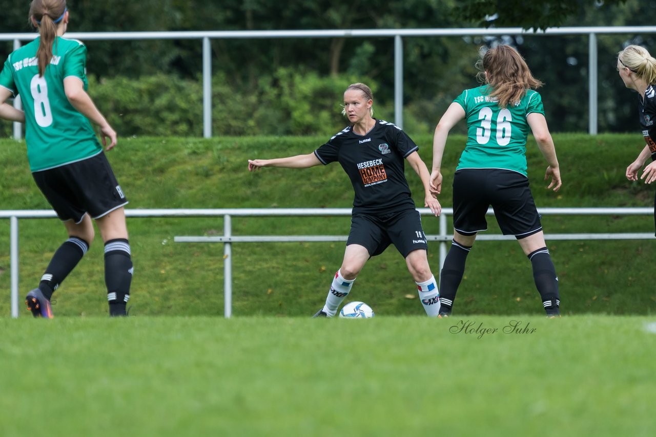
M430 216L428 208L418 208L422 216ZM541 208L543 216L651 216L649 208ZM351 208L226 208L226 209L134 209L125 210L128 218L180 218L222 217L223 235L220 236L177 236L174 242L222 243L224 247L224 316L232 316L232 244L246 242L330 242L346 241L346 235L233 235L233 217L291 217L291 216L350 216ZM493 214L492 210L488 214ZM428 241L440 242L440 269L447 254L447 243L453 235L447 227L447 217L453 215L451 208L443 208L436 235L426 235ZM52 210L5 210L0 219L10 220L10 264L11 264L11 315L18 317L18 220L56 218ZM546 240L647 240L653 233L560 233L545 234ZM477 241L514 240L512 235L481 233Z

